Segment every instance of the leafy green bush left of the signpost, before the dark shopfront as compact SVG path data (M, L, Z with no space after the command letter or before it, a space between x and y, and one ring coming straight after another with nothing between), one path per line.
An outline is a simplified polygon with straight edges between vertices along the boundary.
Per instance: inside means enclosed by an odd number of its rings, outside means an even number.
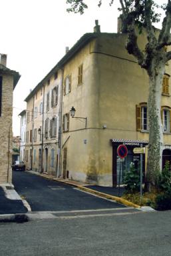
M126 172L124 177L126 193L135 193L140 191L140 171L134 165L130 165L130 171Z

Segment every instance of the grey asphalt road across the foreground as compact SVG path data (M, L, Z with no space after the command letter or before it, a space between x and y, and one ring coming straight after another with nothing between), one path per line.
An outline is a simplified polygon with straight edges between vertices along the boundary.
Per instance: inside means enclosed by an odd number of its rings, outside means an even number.
M170 256L171 211L0 223L5 256Z

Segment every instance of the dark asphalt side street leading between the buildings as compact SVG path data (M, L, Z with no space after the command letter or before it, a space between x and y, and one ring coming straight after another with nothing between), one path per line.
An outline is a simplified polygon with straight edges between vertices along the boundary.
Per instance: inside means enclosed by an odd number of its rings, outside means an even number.
M124 207L101 199L73 186L24 172L13 171L13 184L19 195L25 197L32 211L73 211Z

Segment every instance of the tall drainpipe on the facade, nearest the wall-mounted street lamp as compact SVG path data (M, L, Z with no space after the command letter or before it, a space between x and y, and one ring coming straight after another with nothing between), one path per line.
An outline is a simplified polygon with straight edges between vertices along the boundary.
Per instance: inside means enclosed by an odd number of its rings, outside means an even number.
M61 69L61 93L60 93L60 109L59 109L59 163L57 169L57 177L61 177L62 175L62 127L63 127L63 69Z

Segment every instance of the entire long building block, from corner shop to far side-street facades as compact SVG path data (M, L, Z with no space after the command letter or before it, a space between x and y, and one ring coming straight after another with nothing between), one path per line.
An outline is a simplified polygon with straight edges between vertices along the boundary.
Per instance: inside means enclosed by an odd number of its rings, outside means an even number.
M143 49L145 35L138 40ZM96 24L94 33L83 35L31 91L26 99L27 169L112 186L122 183L130 163L138 166L140 155L133 149L148 145L148 76L127 53L125 41L125 34L100 33ZM161 91L163 163L171 161L170 74L167 63ZM119 145L128 149L122 162ZM143 155L144 172L145 163Z

